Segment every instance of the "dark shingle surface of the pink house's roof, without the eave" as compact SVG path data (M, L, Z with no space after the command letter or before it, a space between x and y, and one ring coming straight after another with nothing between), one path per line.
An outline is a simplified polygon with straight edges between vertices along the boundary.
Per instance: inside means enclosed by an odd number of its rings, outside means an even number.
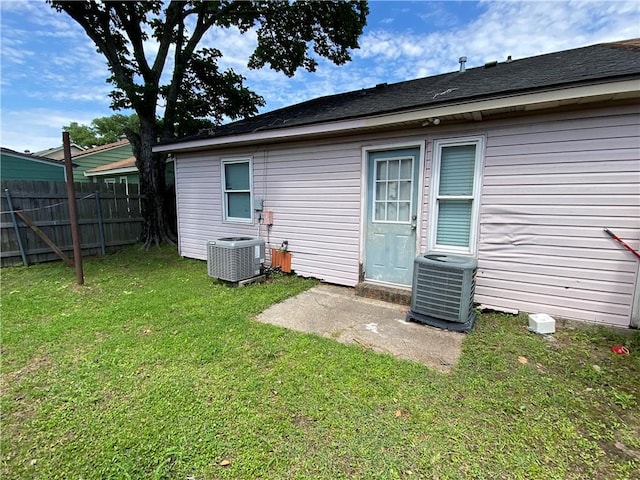
M315 98L163 143L348 120L639 75L640 39L603 43Z

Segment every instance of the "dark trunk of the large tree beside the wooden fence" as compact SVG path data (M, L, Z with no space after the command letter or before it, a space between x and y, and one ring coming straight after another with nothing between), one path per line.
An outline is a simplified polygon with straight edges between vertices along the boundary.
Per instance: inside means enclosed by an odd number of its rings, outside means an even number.
M166 156L153 153L151 147L156 139L154 122L140 117L140 133L127 132L131 142L136 166L140 172L140 194L142 195L142 232L140 241L143 249L148 250L153 244L169 243L175 245L173 220L169 218L167 208L167 188L165 184Z

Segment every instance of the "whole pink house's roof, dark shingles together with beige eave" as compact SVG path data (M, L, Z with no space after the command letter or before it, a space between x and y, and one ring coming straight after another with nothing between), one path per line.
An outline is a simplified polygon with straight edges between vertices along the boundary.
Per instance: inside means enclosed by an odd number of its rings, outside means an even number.
M283 129L293 127L298 127L299 135L330 133L327 125L335 122L341 122L333 126L337 132L425 122L428 116L481 120L482 112L512 112L516 107L527 110L587 99L629 98L640 92L638 78L640 39L603 43L316 98L208 129L199 135L162 142L154 151L230 144L230 137L238 141L240 138L264 141L284 135L280 133ZM406 112L416 115L399 115ZM314 125L321 125L322 129L305 129Z

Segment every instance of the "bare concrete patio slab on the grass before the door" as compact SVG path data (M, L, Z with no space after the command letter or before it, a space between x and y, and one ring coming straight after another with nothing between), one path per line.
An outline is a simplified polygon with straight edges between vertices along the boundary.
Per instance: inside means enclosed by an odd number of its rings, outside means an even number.
M351 288L319 285L271 306L256 319L450 372L465 334L406 322L407 308L358 297Z

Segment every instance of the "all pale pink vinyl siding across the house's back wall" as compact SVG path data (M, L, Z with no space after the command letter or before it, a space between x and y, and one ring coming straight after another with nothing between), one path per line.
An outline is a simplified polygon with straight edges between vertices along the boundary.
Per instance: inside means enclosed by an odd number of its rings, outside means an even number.
M289 242L297 274L358 282L362 149L426 140L420 251L429 228L433 141L483 135L475 301L628 326L640 236L640 108L535 115L309 143L179 154L180 253L206 259L206 242L260 236ZM220 159L251 157L253 196L273 226L223 222Z

